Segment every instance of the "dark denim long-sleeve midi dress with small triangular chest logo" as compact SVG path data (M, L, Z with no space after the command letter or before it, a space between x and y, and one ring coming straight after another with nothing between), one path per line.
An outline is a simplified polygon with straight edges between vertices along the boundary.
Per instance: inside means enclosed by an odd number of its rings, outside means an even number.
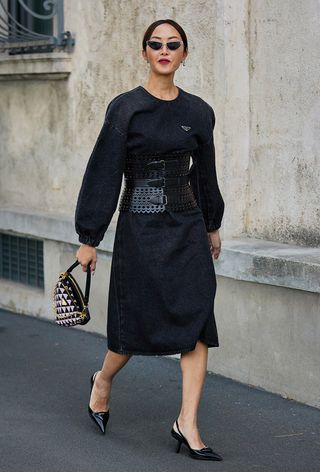
M117 209L128 155L190 152L189 184L197 207L187 211L120 211L108 293L108 349L169 355L197 341L219 346L214 315L216 275L207 233L220 228L213 108L179 88L162 100L141 85L114 97L79 191L79 242L97 247Z

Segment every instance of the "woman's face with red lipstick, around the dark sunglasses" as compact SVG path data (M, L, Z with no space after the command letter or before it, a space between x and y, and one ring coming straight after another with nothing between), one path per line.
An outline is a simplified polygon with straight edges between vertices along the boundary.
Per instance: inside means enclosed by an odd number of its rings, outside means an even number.
M149 61L151 70L156 74L168 75L174 73L180 67L181 62L187 57L180 33L169 23L158 25L153 30L149 40L165 43L159 50L152 49L148 44L146 50L142 50L144 59ZM181 41L181 46L172 51L166 46L166 43L169 41ZM161 62L164 59L167 61Z

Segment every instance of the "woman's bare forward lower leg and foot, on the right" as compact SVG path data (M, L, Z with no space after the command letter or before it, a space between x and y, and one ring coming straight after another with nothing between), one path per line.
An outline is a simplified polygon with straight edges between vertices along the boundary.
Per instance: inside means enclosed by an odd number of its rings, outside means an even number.
M192 449L205 447L197 426L200 396L207 372L208 346L198 341L193 351L181 353L182 405L178 416L179 428ZM174 425L174 430L178 432Z

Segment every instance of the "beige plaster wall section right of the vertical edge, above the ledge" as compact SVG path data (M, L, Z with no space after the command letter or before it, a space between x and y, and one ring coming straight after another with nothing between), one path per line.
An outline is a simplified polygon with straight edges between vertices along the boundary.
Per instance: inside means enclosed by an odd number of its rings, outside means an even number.
M247 232L319 246L320 3L258 0L250 10Z

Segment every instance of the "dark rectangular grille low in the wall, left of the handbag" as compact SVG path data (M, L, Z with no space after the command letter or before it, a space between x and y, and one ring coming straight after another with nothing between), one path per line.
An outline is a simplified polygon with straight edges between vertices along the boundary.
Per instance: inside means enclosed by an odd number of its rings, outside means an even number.
M0 277L44 288L43 241L0 233Z

